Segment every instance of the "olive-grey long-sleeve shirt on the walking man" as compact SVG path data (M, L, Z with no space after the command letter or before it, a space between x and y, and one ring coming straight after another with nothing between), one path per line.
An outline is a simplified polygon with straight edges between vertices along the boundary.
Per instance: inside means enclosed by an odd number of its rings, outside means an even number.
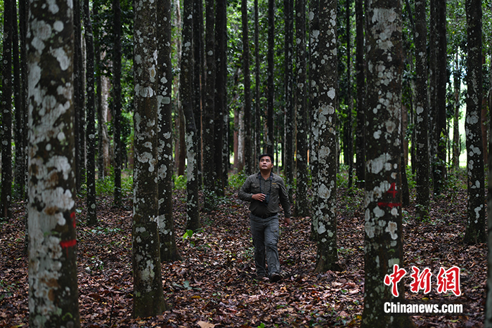
M265 195L270 192L270 201L268 204L252 199L252 195L263 193ZM256 173L248 176L244 185L238 192L238 197L241 200L250 202L250 211L255 216L264 216L265 214L278 213L280 208L278 203L282 204L282 208L286 218L290 218L290 202L283 178L272 173L272 178L264 179L261 174Z

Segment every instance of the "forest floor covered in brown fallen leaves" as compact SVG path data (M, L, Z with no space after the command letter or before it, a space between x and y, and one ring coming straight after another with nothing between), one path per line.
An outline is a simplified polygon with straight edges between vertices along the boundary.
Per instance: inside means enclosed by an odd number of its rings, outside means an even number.
M309 240L310 219L292 218L278 244L285 273L278 283L253 279L253 247L247 204L227 190L219 210L202 213L202 230L183 240L186 196L174 198L176 242L183 261L162 263L169 310L157 317L132 318L131 199L112 207L98 199L98 225L84 223L77 206L79 308L82 327L358 327L363 312L363 190L338 189L341 273L314 274L316 246ZM0 327L29 322L25 205L0 223ZM403 209L404 278L407 299L458 300L460 316L415 316L418 327L483 327L486 295L486 244L465 246L466 189L460 181L432 199L431 218L418 223L415 206ZM193 244L190 243L193 241ZM432 290L410 292L410 267L432 270ZM438 294L440 267L460 268L461 296Z

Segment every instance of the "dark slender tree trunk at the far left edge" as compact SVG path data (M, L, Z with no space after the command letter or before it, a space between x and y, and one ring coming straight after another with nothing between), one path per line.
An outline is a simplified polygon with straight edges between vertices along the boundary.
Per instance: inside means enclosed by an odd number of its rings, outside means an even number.
M4 1L4 48L2 55L2 112L1 112L1 213L12 217L12 0Z

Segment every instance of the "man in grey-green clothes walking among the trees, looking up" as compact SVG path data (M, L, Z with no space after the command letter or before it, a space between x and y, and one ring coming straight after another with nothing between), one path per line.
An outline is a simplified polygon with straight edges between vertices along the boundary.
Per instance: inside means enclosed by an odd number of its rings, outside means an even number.
M250 202L250 225L254 246L254 264L257 277L267 277L271 282L282 279L278 260L278 203L285 213L284 222L290 224L290 202L285 184L272 173L273 156L259 155L259 173L249 176L239 190L238 197Z

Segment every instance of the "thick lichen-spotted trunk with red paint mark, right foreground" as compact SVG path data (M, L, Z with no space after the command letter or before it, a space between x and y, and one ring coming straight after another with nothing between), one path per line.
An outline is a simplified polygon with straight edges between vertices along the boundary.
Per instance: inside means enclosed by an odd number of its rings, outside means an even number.
M364 310L361 327L410 327L410 317L383 311L393 299L384 277L403 266L401 223L401 1L368 0L368 111L365 171ZM403 283L399 284L403 296Z

